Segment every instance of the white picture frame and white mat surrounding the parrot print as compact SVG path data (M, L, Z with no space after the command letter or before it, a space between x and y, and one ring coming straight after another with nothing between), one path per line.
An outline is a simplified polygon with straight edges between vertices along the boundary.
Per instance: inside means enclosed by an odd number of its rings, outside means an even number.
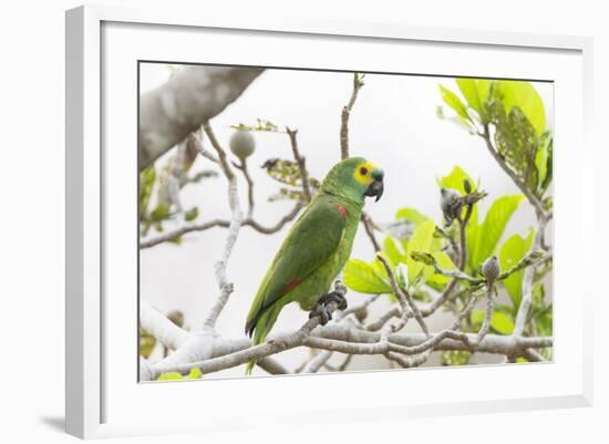
M113 28L114 27L114 28ZM110 31L109 31L110 30ZM116 35L109 34L118 30ZM450 45L454 51L484 51L486 63L491 66L473 65L469 71L463 68L446 66L452 60L426 60L425 72L444 72L446 75L483 75L513 76L527 79L533 65L539 75L550 79L559 86L556 100L556 137L557 155L555 156L555 194L557 196L556 214L558 223L555 236L558 238L556 261L556 359L551 364L522 365L483 369L454 369L452 371L425 370L410 372L381 372L371 374L332 375L318 378L279 378L256 380L219 380L206 382L185 382L176 384L138 384L135 372L136 350L131 343L133 362L126 354L117 351L117 338L130 339L134 334L135 318L130 318L136 307L136 293L131 298L128 288L133 288L131 260L135 256L120 254L113 245L116 228L105 218L106 211L117 211L109 205L117 200L116 184L107 180L107 175L121 178L124 172L115 168L112 158L103 153L103 143L112 137L112 123L102 113L103 106L114 106L105 101L102 94L105 87L112 89L111 79L120 75L124 66L133 60L166 60L172 51L172 42L178 42L188 35L202 34L213 30L215 38L223 35L258 35L268 39L269 45L277 39L289 35L295 45L307 48L308 39L324 39L337 44L360 44L374 42L376 48L384 45L425 45L425 51ZM175 31L175 32L174 32ZM179 31L179 32L178 32ZM220 32L221 31L221 32ZM154 42L157 32L169 32L164 35L166 48ZM123 34L121 34L123 33ZM198 35L198 34L197 34ZM189 35L190 38L193 35ZM175 41L172 39L176 39ZM104 39L107 43L104 45ZM112 40L114 39L114 40ZM118 39L118 40L116 40ZM124 39L124 40L120 40ZM120 41L121 51L112 42ZM277 40L278 41L278 40ZM182 45L184 47L184 45ZM180 47L180 48L182 48ZM186 45L187 47L187 45ZM174 48L177 48L175 45ZM227 49L231 48L228 43ZM388 47L389 48L389 47ZM392 47L393 48L393 47ZM114 53L113 53L114 51ZM131 52L130 52L131 51ZM165 51L165 53L163 53ZM187 48L173 60L205 62L190 59ZM330 49L328 50L330 51ZM121 54L118 54L121 52ZM272 53L272 49L269 51ZM421 51L420 51L421 52ZM503 58L528 56L530 65L518 65L515 72L500 74L500 63L493 65L494 53ZM206 10L184 11L166 9L123 9L120 7L80 7L66 12L66 432L80 437L104 437L117 435L140 435L156 433L184 433L205 431L227 431L242 427L270 426L262 420L268 412L276 414L283 424L304 424L310 421L362 421L391 419L400 421L404 416L442 415L477 412L500 412L528 409L553 409L565 406L591 405L591 280L585 279L576 285L575 278L565 272L569 267L580 267L579 276L590 276L591 271L582 265L572 264L565 252L582 249L582 255L591 256L592 230L584 226L585 215L591 214L592 196L592 147L589 142L589 122L591 122L591 39L561 35L534 35L509 32L485 32L474 30L415 28L390 23L351 23L328 22L323 20L298 20L260 14L258 17L225 17ZM446 53L450 54L450 53ZM527 55L528 54L528 55ZM546 60L535 59L546 56ZM544 55L545 54L545 55ZM123 64L107 62L116 55ZM323 51L320 51L319 63L323 63ZM249 55L249 63L256 63L256 54ZM269 55L279 56L279 53ZM110 58L110 59L109 59ZM288 60L283 65L300 66L297 59ZM247 59L247 58L246 58ZM430 59L430 58L427 58ZM280 59L275 59L280 60ZM527 59L528 60L528 59ZM126 61L126 62L125 62ZM107 65L106 65L107 62ZM217 62L214 60L213 62ZM242 61L241 61L242 62ZM247 60L245 64L247 64ZM489 63L491 62L491 63ZM114 63L114 64L113 64ZM265 64L268 61L262 63ZM302 68L309 66L300 61ZM310 63L310 62L309 62ZM349 63L345 55L343 63ZM370 58L367 63L382 63ZM236 63L239 64L239 63ZM541 65L543 64L543 65ZM123 66L115 73L112 66ZM349 66L352 68L352 66ZM481 72L484 71L484 72ZM545 71L544 71L545 70ZM455 72L457 71L457 72ZM560 72L559 72L560 71ZM545 73L545 74L544 74ZM122 92L135 106L136 89L128 96L130 85L135 78L121 85ZM118 91L116 90L116 91ZM107 94L107 90L104 90ZM112 97L111 97L112 99ZM565 110L565 101L569 109ZM561 102L562 100L562 102ZM136 132L136 117L131 115L133 107L125 109L127 120L131 116L132 132ZM124 117L124 116L122 116ZM110 125L110 126L109 126ZM110 127L110 130L109 130ZM109 131L112 133L109 133ZM121 137L120 134L116 134ZM131 134L128 137L133 137ZM133 138L125 138L126 144ZM562 148L561 148L562 146ZM577 152L565 146L577 146ZM133 146L133 154L136 148ZM133 156L132 156L133 157ZM134 158L134 157L133 157ZM569 168L569 177L564 174ZM128 168L126 168L128 171ZM134 190L134 179L127 190ZM125 199L130 199L128 193ZM110 197L112 198L110 198ZM133 194L135 196L135 194ZM135 199L133 205L135 205ZM127 205L127 204L125 204ZM562 208L576 205L579 211L567 213ZM576 214L577 213L577 214ZM128 219L128 216L125 216ZM124 219L123 219L124 220ZM131 225L125 231L133 231ZM130 236L134 235L133 233ZM118 237L121 235L118 234ZM128 237L127 237L128 240ZM128 244L128 241L126 242ZM135 245L132 247L135 250ZM126 251L128 252L128 251ZM579 252L579 251L578 251ZM114 255L114 256L113 256ZM562 255L562 256L560 256ZM125 265L126 275L107 280L109 257ZM118 258L123 259L118 259ZM126 258L126 259L125 259ZM122 261L126 262L122 262ZM130 265L131 264L131 265ZM107 291L127 289L126 303L107 303L104 295ZM570 293L577 299L566 300L561 295ZM126 302L125 302L126 301ZM124 310L123 310L124 309ZM569 312L569 322L564 313ZM133 324L130 327L128 322ZM104 326L111 322L113 331L106 337ZM131 328L131 330L130 330ZM126 350L126 349L125 349ZM113 362L109 368L107 361ZM435 373L433 373L435 372ZM126 376L125 376L126 375ZM412 376L411 376L412 375ZM405 380L409 378L409 380ZM417 392L425 381L434 378L433 394ZM416 382L412 381L416 380ZM491 381L504 381L503 386L485 385ZM131 382L130 382L131 381ZM405 383L405 381L407 383ZM455 381L463 381L463 388L455 389ZM482 385L479 391L465 390L472 382ZM359 394L349 394L350 384L357 383ZM379 384L394 384L407 388L407 396L374 395ZM376 391L375 391L376 388ZM187 390L186 390L187 389ZM202 392L205 390L205 392ZM401 389L404 390L404 389ZM316 391L333 393L322 404L312 395ZM202 397L205 393L205 397ZM235 396L247 395L248 399L266 397L265 412L246 414L242 406L236 405ZM288 396L289 394L289 396ZM206 401L200 401L205 399ZM223 400L224 399L224 400ZM155 412L145 411L146 405L158 400L158 417ZM197 401L198 400L198 401ZM211 401L209 401L211 400ZM365 400L365 403L362 401ZM233 403L231 403L233 401ZM189 407L205 410L205 415L176 414L172 405L179 405L186 412ZM244 404L240 401L237 404ZM275 406L273 406L275 405ZM213 406L213 409L211 409ZM280 406L280 407L279 407ZM142 410L140 410L142 409ZM275 410L273 410L275 409ZM138 414L142 412L142 414ZM331 415L328 415L331 413ZM202 417L205 417L202 420ZM331 417L330 417L331 416Z

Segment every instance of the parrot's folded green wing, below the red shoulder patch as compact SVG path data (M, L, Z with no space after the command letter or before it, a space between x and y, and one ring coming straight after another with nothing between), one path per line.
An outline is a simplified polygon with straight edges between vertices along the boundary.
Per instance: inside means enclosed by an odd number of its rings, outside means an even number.
M333 196L320 193L293 225L254 299L246 333L251 335L258 320L276 302L337 251L347 226L347 217L340 208ZM264 341L266 334L260 337Z

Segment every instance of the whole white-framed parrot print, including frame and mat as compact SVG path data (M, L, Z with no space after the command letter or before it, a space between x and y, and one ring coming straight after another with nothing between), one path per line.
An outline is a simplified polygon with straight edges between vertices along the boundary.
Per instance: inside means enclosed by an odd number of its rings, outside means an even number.
M588 405L590 51L69 11L68 432Z

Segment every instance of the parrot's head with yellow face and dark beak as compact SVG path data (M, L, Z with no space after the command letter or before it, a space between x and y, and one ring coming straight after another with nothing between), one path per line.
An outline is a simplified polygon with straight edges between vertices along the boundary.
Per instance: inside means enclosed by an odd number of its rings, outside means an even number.
M383 195L383 169L363 157L349 157L339 162L326 175L321 189L363 203L364 198Z

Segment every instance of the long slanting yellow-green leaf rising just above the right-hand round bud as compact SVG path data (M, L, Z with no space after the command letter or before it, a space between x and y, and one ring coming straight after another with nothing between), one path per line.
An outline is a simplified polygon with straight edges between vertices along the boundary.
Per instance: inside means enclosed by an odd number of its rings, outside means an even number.
M476 227L475 233L472 233L475 236L471 244L474 248L469 251L472 269L476 269L482 261L493 255L507 223L523 198L522 195L503 196L493 202L484 223Z

